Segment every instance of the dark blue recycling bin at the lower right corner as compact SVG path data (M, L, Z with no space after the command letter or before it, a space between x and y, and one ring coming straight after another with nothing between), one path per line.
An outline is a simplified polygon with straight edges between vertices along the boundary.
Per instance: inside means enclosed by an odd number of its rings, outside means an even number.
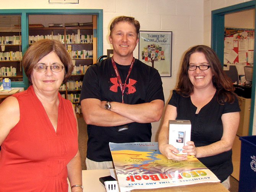
M256 136L241 140L239 192L256 192Z

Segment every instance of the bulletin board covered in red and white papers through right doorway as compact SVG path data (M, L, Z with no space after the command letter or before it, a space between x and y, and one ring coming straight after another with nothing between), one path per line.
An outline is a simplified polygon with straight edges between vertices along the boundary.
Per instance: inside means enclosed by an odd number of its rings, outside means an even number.
M224 70L235 65L238 75L245 75L244 66L253 65L253 51L254 29L225 28Z

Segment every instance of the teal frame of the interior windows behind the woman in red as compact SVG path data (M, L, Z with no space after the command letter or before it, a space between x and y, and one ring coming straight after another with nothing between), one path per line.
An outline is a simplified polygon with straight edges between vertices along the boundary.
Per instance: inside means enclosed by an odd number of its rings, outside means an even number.
M24 54L28 49L28 29L29 29L29 15L36 14L87 14L97 15L97 29L94 30L94 37L97 37L97 58L103 55L103 10L102 9L12 9L0 10L0 15L21 15L21 46ZM29 86L28 78L23 70L23 82L11 82L12 87L24 87L26 90Z

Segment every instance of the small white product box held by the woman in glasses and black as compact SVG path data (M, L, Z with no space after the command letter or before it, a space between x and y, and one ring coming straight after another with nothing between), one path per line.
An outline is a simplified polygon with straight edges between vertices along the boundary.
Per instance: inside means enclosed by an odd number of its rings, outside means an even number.
M183 153L183 146L190 141L191 137L191 123L190 120L169 120L169 144L173 145Z

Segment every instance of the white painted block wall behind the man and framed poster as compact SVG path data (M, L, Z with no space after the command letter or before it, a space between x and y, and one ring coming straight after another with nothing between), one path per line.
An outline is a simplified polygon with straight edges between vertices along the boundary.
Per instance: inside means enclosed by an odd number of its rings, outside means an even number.
M172 31L172 77L162 77L165 103L177 83L182 56L191 46L211 45L211 10L245 2L244 0L79 0L79 4L49 4L48 0L10 0L1 9L103 9L103 54L112 48L109 25L116 16L133 16L141 30ZM138 46L134 50L138 58ZM160 122L152 123L156 141Z

